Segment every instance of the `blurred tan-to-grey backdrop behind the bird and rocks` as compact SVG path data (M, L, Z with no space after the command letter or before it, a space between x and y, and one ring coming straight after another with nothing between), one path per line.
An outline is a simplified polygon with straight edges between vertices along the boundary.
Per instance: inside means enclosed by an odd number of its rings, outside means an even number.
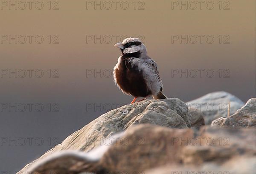
M184 102L255 97L255 1L0 1L0 170L15 173L132 97L113 45L139 37Z

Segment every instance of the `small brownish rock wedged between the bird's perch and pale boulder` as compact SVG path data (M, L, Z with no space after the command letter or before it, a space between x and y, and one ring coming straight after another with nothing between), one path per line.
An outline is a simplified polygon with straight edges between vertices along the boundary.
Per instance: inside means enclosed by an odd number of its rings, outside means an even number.
M196 110L190 110L189 114L191 115L191 127L199 129L201 126L204 126L204 115L202 112Z

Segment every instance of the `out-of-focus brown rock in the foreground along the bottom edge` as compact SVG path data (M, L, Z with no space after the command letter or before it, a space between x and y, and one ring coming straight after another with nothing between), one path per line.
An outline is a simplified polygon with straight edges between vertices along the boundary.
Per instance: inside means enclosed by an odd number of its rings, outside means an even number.
M256 157L255 128L203 126L198 131L140 124L110 139L114 140L110 145L101 145L88 153L57 152L43 162L33 164L28 171L40 174L49 171L61 174L85 171L134 174L165 165L181 166L181 169L189 166L193 170L223 167L232 171L235 168L229 167L238 168L243 164L243 168L248 167L244 171L250 170L250 174L254 171L252 166L256 165L253 160ZM243 174L242 169L240 171L238 174Z

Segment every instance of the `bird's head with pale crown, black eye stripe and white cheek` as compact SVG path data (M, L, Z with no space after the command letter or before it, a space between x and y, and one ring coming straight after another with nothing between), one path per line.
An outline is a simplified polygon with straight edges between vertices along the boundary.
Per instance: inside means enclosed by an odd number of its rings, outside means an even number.
M120 48L122 54L127 57L143 57L147 55L145 45L138 38L129 37L114 46Z

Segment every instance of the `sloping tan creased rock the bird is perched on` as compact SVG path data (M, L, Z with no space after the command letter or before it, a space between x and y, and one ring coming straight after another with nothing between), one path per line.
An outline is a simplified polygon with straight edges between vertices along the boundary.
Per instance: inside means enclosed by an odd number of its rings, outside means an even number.
M101 115L84 128L74 132L38 160L65 149L90 151L105 137L110 137L137 124L150 123L169 128L188 128L191 127L190 119L186 103L176 98L144 100L125 105ZM30 165L26 165L21 171L26 170Z

